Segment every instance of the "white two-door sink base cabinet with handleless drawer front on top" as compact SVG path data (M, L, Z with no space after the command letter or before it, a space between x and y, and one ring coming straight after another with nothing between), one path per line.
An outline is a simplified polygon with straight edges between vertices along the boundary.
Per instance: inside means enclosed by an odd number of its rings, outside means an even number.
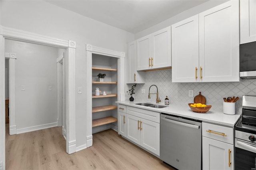
M159 156L160 113L130 106L126 108L126 138Z

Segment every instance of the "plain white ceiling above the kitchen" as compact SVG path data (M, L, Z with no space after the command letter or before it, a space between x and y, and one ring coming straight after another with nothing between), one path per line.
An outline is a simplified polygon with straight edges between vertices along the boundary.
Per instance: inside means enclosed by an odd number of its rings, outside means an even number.
M44 1L130 33L138 33L208 0Z

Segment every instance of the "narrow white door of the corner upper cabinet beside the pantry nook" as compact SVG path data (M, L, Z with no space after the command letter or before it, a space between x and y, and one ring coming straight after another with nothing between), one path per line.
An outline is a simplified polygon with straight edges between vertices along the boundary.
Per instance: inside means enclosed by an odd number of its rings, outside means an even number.
M127 83L136 83L136 41L128 43L128 69Z

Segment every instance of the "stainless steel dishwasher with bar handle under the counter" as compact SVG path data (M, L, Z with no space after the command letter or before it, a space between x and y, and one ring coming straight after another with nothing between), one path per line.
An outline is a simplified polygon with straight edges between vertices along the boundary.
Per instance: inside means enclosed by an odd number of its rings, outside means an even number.
M202 169L202 121L161 113L160 159L179 170Z

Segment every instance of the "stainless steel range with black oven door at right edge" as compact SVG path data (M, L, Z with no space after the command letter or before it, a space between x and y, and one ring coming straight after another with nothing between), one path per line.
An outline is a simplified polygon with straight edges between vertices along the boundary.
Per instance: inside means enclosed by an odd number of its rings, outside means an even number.
M256 96L243 96L235 127L235 170L256 169Z

